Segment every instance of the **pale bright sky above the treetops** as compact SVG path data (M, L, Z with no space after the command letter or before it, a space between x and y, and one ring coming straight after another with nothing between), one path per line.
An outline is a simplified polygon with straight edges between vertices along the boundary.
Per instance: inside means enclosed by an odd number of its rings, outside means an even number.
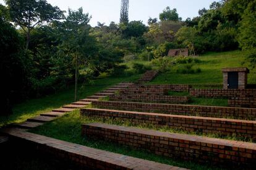
M198 15L198 10L209 5L214 0L130 0L129 20L142 20L147 24L149 17L159 18L159 14L167 6L176 8L179 17L186 20ZM121 0L48 0L52 6L58 6L61 10L68 8L76 10L83 7L83 12L92 15L90 24L96 26L97 22L109 25L111 21L119 23ZM0 0L4 4L3 0Z

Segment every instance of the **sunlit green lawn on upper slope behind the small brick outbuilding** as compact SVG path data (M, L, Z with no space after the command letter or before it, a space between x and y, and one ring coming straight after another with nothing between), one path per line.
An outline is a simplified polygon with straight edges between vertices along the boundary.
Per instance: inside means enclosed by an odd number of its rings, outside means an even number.
M151 84L190 84L195 88L212 85L213 87L210 88L221 88L223 82L222 68L249 67L249 64L246 62L242 64L245 59L245 54L242 51L207 53L197 58L202 62L195 63L194 67L199 67L202 72L196 74L177 74L176 70L184 67L184 64L179 64L171 67L171 72L158 75ZM256 69L250 70L248 83L256 83Z

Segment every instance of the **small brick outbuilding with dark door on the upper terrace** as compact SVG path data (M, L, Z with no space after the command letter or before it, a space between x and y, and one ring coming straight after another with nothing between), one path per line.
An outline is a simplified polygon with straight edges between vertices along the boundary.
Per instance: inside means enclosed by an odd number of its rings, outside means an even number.
M225 68L222 72L224 89L245 89L247 87L247 74L250 72L247 67Z

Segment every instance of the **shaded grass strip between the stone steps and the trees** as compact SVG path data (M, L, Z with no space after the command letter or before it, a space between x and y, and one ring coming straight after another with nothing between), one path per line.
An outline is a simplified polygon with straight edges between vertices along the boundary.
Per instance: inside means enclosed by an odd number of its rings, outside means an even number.
M106 88L120 82L131 82L139 79L141 75L130 77L103 77L93 81L92 85L79 85L78 98L86 98L94 93L105 90ZM67 90L59 91L56 94L48 95L43 98L27 100L13 107L13 114L10 116L0 116L0 127L6 124L19 123L30 117L46 113L52 109L59 108L64 104L74 102L74 86Z

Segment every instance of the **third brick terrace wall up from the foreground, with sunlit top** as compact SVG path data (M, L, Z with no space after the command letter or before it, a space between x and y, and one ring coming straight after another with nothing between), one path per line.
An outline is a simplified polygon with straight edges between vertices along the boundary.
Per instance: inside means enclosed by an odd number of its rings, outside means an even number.
M181 116L173 114L142 113L110 109L81 109L82 115L127 119L137 123L168 126L189 132L239 135L256 140L256 121L221 119L212 117Z

